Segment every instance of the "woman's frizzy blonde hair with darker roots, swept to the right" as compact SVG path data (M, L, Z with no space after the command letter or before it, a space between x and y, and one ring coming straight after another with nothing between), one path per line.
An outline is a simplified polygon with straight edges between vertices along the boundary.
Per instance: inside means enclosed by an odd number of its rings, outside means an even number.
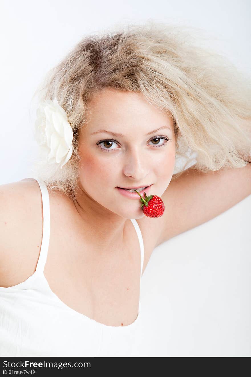
M188 28L189 29L189 28ZM192 31L196 31L195 37ZM176 158L197 152L192 169L243 167L250 158L251 81L226 58L196 42L201 30L148 21L85 36L46 77L40 101L59 101L73 130L73 153L62 169L44 160L34 171L47 187L74 198L79 177L78 130L99 90L140 92L171 114ZM200 34L201 35L201 34ZM42 93L42 94L41 94ZM174 174L176 179L183 169Z

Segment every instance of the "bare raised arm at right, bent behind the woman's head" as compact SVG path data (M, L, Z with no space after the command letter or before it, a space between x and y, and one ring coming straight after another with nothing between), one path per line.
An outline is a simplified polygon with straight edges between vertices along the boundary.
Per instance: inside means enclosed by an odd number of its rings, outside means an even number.
M185 170L169 183L162 195L165 211L159 218L157 245L213 219L248 195L251 195L251 164L209 173Z

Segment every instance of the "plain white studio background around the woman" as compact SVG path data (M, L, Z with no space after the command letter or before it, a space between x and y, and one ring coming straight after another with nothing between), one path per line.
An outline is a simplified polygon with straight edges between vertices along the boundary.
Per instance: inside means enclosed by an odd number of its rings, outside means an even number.
M46 72L86 34L145 20L208 32L208 46L250 76L248 0L3 1L0 184L30 177L32 101ZM142 277L139 355L251 356L251 196L156 248ZM167 209L168 210L168 209Z

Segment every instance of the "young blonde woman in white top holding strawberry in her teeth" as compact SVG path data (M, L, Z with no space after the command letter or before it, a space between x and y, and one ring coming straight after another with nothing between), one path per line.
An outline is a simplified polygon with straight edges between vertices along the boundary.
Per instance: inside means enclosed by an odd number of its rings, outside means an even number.
M35 178L0 186L1 356L137 356L154 248L251 194L250 118L247 81L179 28L83 38L48 77Z

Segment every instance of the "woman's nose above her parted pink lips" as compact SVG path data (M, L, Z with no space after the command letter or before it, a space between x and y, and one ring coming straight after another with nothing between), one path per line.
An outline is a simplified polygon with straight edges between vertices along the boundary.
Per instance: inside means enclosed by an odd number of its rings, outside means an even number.
M150 161L145 158L142 151L134 149L126 153L123 174L133 179L135 184L145 183L150 169Z

